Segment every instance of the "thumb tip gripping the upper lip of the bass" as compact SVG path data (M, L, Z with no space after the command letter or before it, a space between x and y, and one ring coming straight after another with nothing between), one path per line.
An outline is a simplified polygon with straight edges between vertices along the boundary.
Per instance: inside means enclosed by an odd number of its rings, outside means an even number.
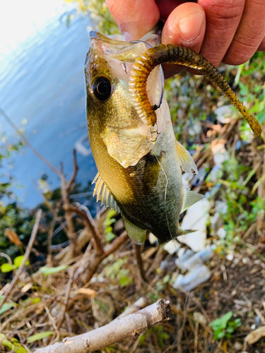
M160 18L155 0L106 0L120 30L130 40L139 40L152 30Z

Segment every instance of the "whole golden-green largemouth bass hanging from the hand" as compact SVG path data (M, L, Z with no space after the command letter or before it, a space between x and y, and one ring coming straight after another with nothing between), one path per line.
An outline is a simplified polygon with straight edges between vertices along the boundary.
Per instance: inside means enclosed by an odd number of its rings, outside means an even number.
M143 42L159 44L156 30ZM122 212L126 231L136 244L143 244L147 230L165 242L192 232L179 227L179 215L204 196L183 189L182 169L198 171L192 156L175 139L164 98L154 113L162 90L159 68L149 75L151 68L143 79L134 71L130 88L132 66L143 58L146 44L122 39L90 32L85 76L88 136L98 167L94 194L97 201ZM155 117L143 108L149 101Z

